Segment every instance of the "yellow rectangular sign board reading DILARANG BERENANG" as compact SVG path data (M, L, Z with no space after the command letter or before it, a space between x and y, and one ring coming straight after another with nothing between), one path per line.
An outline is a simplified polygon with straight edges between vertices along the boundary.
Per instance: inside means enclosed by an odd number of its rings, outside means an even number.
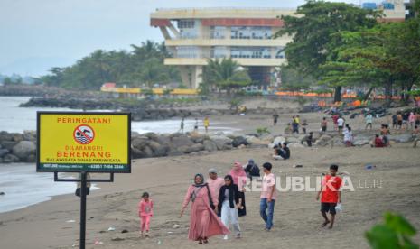
M130 172L130 114L38 112L37 171Z

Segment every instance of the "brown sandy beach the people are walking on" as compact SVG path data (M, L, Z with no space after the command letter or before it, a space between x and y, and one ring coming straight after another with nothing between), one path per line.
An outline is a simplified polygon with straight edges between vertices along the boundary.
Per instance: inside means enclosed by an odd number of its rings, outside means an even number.
M272 134L282 134L285 121L292 114L280 115L282 125L272 127L271 117L219 116L210 122L223 121L240 128L241 133L254 132L267 126ZM319 129L321 114L304 114L310 122L308 130ZM376 128L389 116L375 121ZM354 129L364 124L361 118L350 120ZM381 222L385 211L404 215L417 229L420 227L420 153L411 143L395 144L390 148L313 147L292 149L288 161L274 161L269 149L238 149L205 152L197 155L152 158L133 161L131 174L117 174L113 183L100 183L100 189L88 198L88 248L195 248L187 240L189 211L179 218L182 199L195 173L216 168L219 176L229 172L234 161L252 158L262 165L270 161L279 177L303 176L315 178L338 163L346 172L354 191L342 194L343 211L332 230L322 228L320 204L315 192L286 191L278 194L271 232L264 231L259 217L259 193L247 192L247 217L240 217L241 239L221 236L210 238L207 248L369 248L365 231ZM294 168L302 164L303 168ZM366 170L365 165L376 168ZM375 184L377 183L377 184ZM379 183L379 184L378 184ZM369 186L368 186L369 184ZM373 185L377 186L373 186ZM367 188L369 187L369 188ZM373 188L376 187L376 188ZM380 188L379 188L380 187ZM154 200L151 237L138 235L139 219L136 206L143 191ZM74 222L68 222L74 221ZM2 248L74 248L79 239L79 198L64 195L32 207L0 214L0 244ZM180 225L179 228L173 228ZM115 227L115 231L108 231ZM126 230L127 233L121 233ZM95 245L95 241L101 244ZM415 236L420 242L420 235ZM75 245L76 246L76 245Z

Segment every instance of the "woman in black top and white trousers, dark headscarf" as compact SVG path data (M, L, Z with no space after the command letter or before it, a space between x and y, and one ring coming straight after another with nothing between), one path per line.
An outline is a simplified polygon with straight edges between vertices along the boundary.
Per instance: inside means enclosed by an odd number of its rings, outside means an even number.
M233 183L232 176L225 176L225 184L219 190L219 214L221 222L226 227L230 224L233 226L235 235L240 238L240 227L238 221L238 210L242 208L242 199L239 197L238 185ZM228 235L224 236L228 239Z

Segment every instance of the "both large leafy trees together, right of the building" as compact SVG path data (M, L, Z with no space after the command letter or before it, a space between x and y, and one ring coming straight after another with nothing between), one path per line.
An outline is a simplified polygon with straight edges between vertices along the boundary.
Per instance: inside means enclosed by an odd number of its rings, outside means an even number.
M416 10L420 0L415 1ZM301 17L283 16L285 29L276 36L294 35L285 47L285 89L308 89L317 82L334 88L368 87L409 92L420 83L420 17L404 23L378 23L383 17L355 5L310 0L298 7ZM405 96L405 101L410 95Z

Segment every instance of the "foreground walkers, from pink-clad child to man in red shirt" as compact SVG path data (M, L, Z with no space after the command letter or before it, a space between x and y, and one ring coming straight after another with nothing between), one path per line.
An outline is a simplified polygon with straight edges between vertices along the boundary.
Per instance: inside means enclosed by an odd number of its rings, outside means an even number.
M207 180L200 173L194 176L194 182L188 188L182 202L180 217L191 203L190 229L188 238L198 241L199 244L208 244L209 238L214 235L223 235L229 239L229 226L232 226L236 238L241 237L239 217L247 215L244 186L249 176L259 177L255 161L249 160L243 167L235 162L229 174L219 178L216 169L209 170ZM272 173L273 165L266 162L262 165L264 175L260 193L259 214L266 231L273 227L273 217L277 193L275 188L275 175ZM321 214L324 218L322 226L330 224L332 228L336 215L336 206L341 203L341 178L337 176L338 166L331 165L330 174L322 180L322 189L317 193L316 199L321 198ZM327 217L330 213L330 217ZM145 192L138 204L138 216L141 219L140 235L149 236L150 220L154 216L154 201L149 193Z

